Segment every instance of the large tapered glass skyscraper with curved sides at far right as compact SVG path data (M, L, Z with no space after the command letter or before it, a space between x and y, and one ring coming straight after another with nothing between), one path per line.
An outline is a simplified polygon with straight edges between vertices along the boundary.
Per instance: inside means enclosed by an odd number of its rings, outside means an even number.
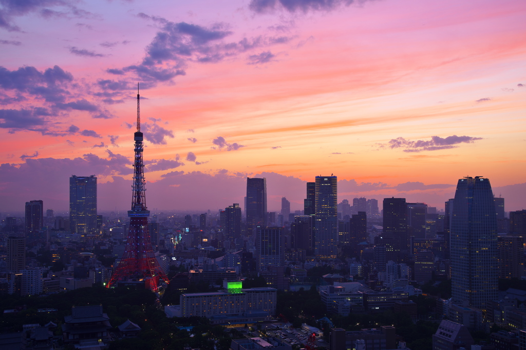
M497 215L487 178L459 179L451 217L451 294L484 309L498 296Z

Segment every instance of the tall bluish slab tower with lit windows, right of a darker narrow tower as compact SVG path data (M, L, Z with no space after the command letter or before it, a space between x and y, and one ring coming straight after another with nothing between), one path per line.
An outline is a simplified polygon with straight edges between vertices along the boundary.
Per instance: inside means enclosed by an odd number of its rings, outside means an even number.
M316 176L315 255L336 259L338 253L338 178Z

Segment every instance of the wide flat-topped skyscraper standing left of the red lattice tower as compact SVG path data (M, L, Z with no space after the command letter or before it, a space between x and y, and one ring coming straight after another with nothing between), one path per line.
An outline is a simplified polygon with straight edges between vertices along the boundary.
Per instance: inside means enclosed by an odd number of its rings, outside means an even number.
M69 229L80 235L97 233L97 178L69 178Z

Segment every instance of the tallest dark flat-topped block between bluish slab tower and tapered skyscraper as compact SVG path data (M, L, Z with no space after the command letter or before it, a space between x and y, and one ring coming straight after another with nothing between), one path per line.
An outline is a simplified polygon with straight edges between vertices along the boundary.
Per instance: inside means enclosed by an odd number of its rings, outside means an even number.
M392 235L398 259L409 252L408 231L406 198L384 198L383 233Z

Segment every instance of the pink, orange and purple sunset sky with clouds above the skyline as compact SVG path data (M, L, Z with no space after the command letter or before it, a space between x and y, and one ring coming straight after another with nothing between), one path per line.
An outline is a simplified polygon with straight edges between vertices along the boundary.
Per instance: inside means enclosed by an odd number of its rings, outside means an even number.
M154 210L269 210L305 183L443 209L484 176L526 208L526 2L0 0L0 211L131 203L137 83ZM381 204L380 204L381 209Z

